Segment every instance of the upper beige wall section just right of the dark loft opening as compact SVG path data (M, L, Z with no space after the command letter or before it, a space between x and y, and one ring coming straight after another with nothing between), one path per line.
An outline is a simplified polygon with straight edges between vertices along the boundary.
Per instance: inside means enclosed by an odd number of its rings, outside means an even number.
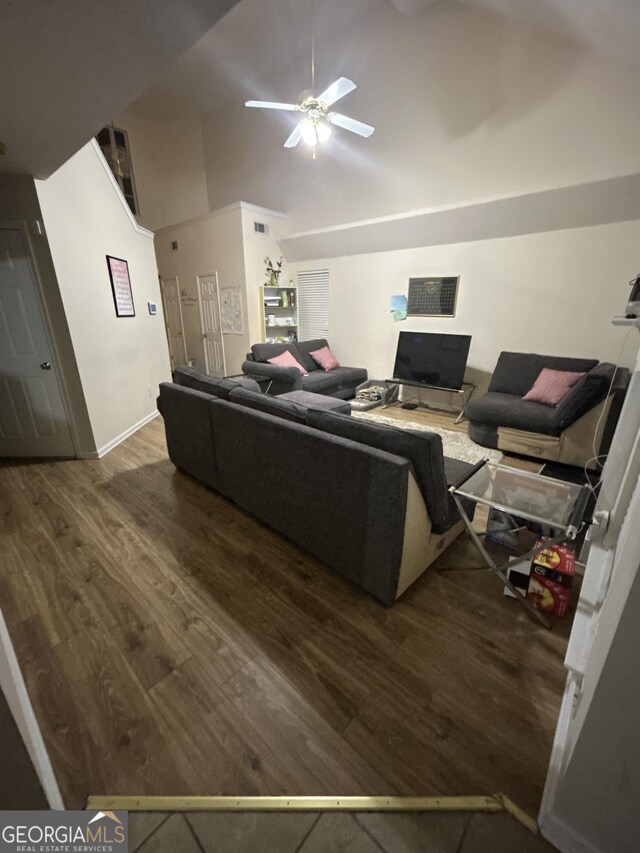
M198 119L157 121L126 112L114 124L129 136L142 226L156 231L208 213Z

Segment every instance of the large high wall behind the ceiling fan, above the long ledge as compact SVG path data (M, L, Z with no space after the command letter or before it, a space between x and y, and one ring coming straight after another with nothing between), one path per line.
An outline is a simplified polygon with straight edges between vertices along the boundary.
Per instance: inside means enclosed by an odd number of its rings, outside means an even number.
M303 230L640 171L637 70L498 14L385 4L316 55L319 86L358 84L336 109L374 135L336 129L314 162L282 147L296 115L239 100L203 122L212 207L244 198ZM307 80L304 58L247 95L295 100Z

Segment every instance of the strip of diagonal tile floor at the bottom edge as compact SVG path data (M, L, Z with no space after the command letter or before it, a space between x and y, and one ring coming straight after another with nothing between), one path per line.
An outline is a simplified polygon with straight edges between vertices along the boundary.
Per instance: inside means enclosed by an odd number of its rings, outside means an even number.
M131 853L553 853L506 812L131 812Z

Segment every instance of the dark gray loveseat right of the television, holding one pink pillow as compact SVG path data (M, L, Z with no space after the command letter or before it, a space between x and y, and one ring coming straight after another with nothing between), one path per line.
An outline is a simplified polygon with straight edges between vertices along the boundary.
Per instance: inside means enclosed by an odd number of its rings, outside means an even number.
M586 375L557 406L523 400L543 368ZM469 436L484 447L596 467L615 428L629 371L596 359L502 352L488 393L465 407ZM596 435L597 428L597 435Z

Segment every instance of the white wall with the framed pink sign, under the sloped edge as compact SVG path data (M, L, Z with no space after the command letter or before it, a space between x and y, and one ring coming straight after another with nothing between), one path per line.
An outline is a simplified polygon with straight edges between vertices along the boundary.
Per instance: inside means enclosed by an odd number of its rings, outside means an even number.
M153 415L170 377L151 235L134 228L95 143L36 181L98 452ZM115 314L105 256L129 263L136 316ZM151 316L148 302L158 303Z

